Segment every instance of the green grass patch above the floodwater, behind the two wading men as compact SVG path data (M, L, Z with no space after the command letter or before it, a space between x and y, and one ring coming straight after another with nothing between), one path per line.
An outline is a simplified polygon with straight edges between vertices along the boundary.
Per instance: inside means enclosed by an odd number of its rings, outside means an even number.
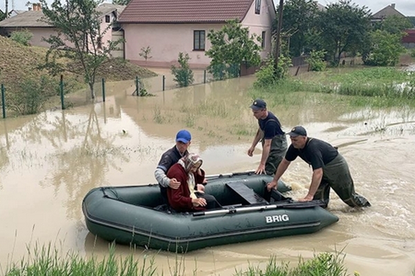
M415 72L396 68L331 68L279 81L268 88L252 88L250 95L270 101L270 106L301 106L326 101L378 108L415 107Z

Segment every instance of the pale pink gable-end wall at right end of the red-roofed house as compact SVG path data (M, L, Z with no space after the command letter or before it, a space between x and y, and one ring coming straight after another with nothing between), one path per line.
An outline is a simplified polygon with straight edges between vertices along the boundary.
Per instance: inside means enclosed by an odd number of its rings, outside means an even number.
M266 32L265 48L261 51L262 59L265 59L271 51L271 28L275 19L272 2L270 0L261 0L261 11L259 14L255 14L255 1L252 1L246 17L241 22L243 27L249 28L250 34L257 34L257 36L261 37L262 32Z

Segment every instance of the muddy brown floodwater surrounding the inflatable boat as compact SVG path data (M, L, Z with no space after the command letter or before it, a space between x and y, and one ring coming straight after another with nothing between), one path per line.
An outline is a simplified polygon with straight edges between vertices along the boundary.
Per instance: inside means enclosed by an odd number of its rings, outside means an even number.
M131 96L130 82L109 83L107 101L40 115L0 120L0 274L36 244L62 253L104 256L108 243L84 224L81 203L97 186L154 183L154 168L174 144L177 130L193 135L208 174L257 168L261 150L248 157L257 128L248 108L252 77ZM296 264L298 256L342 250L349 273L412 275L415 268L415 112L324 105L270 106L285 130L304 125L311 137L339 146L358 193L372 207L353 210L334 193L329 210L340 217L311 235L216 246L181 258L183 275L232 275L264 264L270 255ZM317 97L317 96L315 96ZM290 196L306 195L311 169L295 161L283 179ZM117 253L131 253L117 246ZM170 275L176 255L149 250L158 272ZM141 248L135 253L142 257ZM64 255L64 254L63 254ZM183 271L182 271L183 272Z

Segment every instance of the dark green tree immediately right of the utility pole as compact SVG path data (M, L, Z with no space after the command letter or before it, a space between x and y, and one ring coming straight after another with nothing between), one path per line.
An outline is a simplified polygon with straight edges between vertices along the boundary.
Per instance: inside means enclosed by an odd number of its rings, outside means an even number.
M289 54L298 57L303 52L308 52L308 41L311 39L311 30L315 26L317 16L317 4L313 0L288 0L284 5L282 19L282 38L289 41ZM275 19L273 29L278 26L278 18Z

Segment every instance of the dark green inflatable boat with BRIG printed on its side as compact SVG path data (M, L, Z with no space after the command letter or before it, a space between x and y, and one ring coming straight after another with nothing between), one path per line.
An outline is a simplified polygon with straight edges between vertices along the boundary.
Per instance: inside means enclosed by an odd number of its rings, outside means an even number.
M158 184L93 188L82 201L86 227L93 235L119 244L183 253L190 250L314 233L338 217L320 207L320 201L298 202L279 192L290 190L279 182L267 201L269 175L252 172L208 177L205 193L214 195L223 209L175 213L163 204Z

